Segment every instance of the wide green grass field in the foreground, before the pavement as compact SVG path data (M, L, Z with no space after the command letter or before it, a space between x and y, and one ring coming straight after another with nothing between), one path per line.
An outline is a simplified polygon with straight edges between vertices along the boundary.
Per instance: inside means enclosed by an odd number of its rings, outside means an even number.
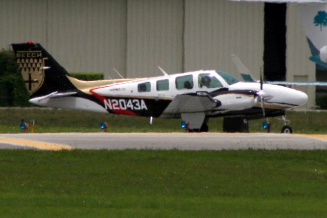
M326 217L327 151L0 150L3 217Z

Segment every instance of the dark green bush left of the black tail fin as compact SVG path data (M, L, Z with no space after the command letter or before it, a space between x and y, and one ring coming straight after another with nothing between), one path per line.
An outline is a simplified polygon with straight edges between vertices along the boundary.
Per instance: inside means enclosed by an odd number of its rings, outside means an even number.
M14 52L0 51L0 106L30 106L28 100Z

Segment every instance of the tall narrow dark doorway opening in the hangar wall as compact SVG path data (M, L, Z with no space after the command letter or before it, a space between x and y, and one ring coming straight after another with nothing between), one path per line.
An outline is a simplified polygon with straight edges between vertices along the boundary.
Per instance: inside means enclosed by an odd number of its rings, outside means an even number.
M286 78L286 4L265 3L264 76Z

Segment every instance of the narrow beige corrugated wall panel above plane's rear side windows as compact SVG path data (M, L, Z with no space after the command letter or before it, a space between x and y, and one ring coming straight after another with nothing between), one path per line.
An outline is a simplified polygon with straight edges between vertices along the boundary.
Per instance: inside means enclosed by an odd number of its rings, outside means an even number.
M128 1L127 75L161 76L182 71L182 0Z

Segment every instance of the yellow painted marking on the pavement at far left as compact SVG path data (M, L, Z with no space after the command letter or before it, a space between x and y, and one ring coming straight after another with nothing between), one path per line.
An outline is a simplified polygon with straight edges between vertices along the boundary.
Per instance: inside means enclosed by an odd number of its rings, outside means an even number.
M17 144L19 146L27 146L33 147L37 149L44 149L44 150L73 150L74 148L71 146L66 146L64 144L56 144L51 142L43 142L43 141L34 141L28 139L18 139L18 138L3 138L0 137L1 142L7 142L10 144Z

